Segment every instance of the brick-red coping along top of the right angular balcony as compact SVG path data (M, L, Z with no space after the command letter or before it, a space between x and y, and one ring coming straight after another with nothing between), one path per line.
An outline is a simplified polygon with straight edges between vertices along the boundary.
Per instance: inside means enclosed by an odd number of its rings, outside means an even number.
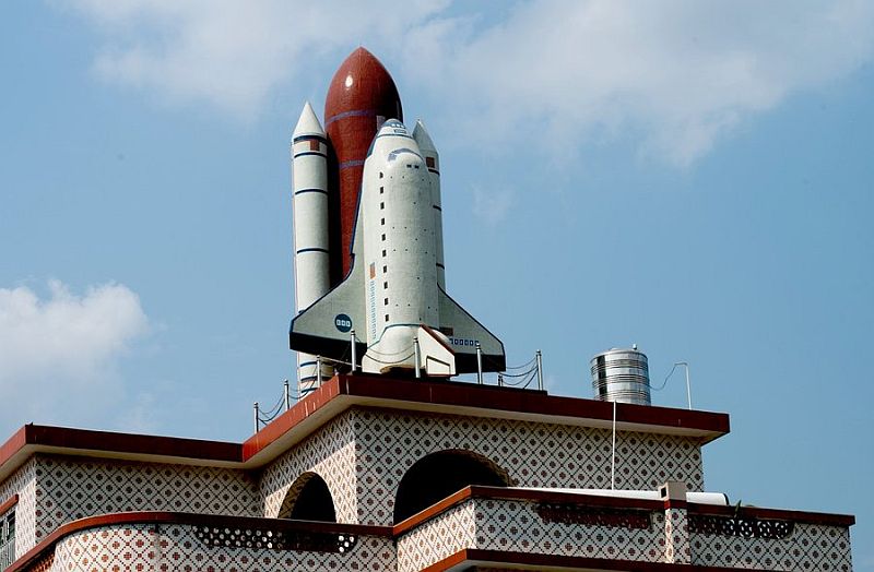
M471 485L458 492L450 494L444 500L432 504L424 511L416 513L409 519L398 523L392 528L394 536L409 533L420 524L434 519L449 509L461 504L468 499L506 499L525 500L536 502L556 502L567 504L578 504L581 507L610 507L616 509L638 509L646 511L663 511L665 509L688 509L690 514L712 514L722 516L741 516L755 519L775 519L792 521L799 524L819 524L829 526L852 526L855 524L855 516L846 514L826 514L815 512L786 511L780 509L759 509L757 507L719 507L711 504L698 504L685 501L672 500L647 500L647 499L626 499L622 497L602 497L598 494L577 494L574 492L558 492L530 489L512 489L501 487L484 487Z

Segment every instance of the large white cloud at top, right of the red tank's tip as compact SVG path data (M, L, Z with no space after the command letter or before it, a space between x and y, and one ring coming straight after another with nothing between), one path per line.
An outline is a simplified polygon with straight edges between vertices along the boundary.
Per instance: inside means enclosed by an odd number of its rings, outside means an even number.
M436 22L417 35L440 76L409 71L477 116L470 135L560 150L631 133L685 166L752 114L870 59L874 4L541 0L458 29Z

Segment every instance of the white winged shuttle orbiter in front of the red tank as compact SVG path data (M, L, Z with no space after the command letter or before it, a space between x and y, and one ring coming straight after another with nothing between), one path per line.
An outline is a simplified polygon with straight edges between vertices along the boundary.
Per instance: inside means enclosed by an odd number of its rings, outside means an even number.
M422 122L412 134L398 120L382 124L364 163L350 272L292 321L293 349L349 360L355 330L365 372L415 370L414 341L429 376L476 371L477 345L484 371L505 368L501 342L442 286L438 158Z

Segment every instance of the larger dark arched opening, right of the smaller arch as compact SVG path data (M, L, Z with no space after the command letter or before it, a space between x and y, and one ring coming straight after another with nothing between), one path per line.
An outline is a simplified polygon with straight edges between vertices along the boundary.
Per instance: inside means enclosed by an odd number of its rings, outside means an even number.
M394 524L469 485L509 487L511 482L506 470L473 451L448 449L430 453L401 478L394 497Z

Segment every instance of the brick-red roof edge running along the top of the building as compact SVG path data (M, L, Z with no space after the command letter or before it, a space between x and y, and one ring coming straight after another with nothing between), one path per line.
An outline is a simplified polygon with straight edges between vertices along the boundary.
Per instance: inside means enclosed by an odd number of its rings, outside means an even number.
M595 400L451 381L339 374L241 443L28 424L0 445L0 480L36 453L258 468L355 406L595 428L610 428L613 422L613 404ZM616 428L697 437L709 442L729 432L729 416L619 403Z

